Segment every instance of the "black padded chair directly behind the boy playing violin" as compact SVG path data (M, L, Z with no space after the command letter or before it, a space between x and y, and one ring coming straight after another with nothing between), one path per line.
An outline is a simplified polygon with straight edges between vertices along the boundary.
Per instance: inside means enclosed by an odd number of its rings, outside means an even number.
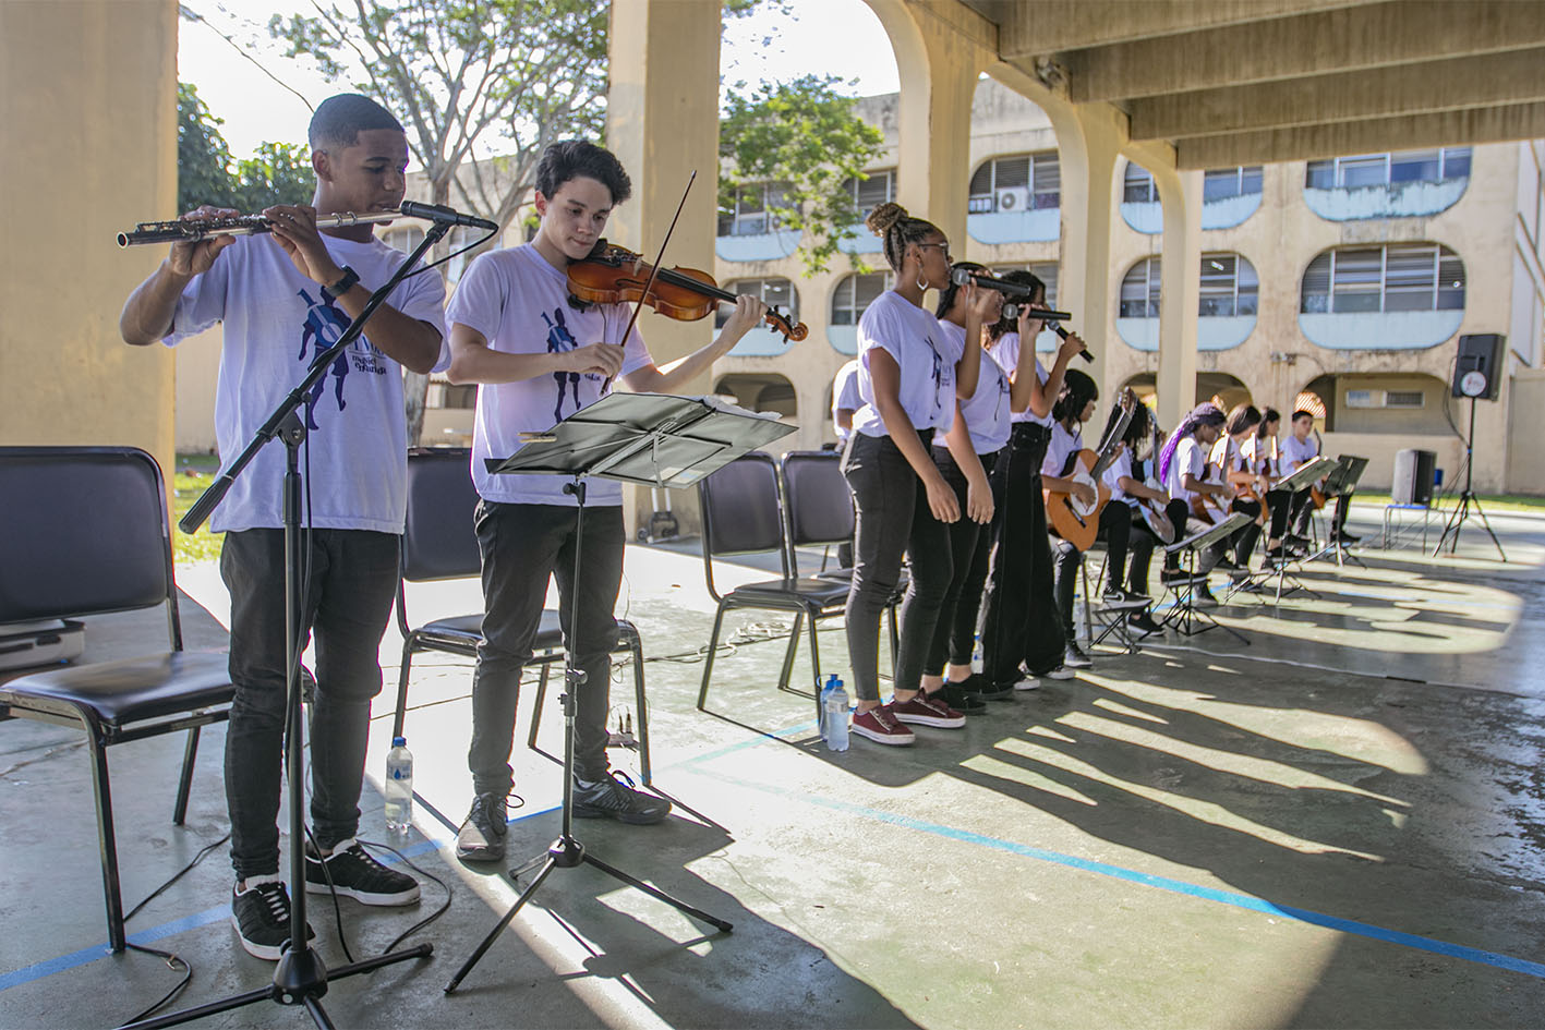
M477 656L482 644L482 612L434 619L417 629L408 622L406 582L462 579L482 573L482 553L473 528L477 490L470 469L471 454L465 448L425 448L408 454L408 522L402 537L402 581L397 584L397 629L402 632L402 673L397 678L397 713L392 737L402 737L408 717L408 678L413 656L419 652L443 652ZM638 771L644 784L649 772L649 713L644 704L644 649L638 627L627 619L616 621L616 650L633 658L633 696L638 709ZM547 675L553 662L564 659L564 633L558 612L542 612L541 627L531 641L531 662L541 667L536 698L531 706L531 729L527 744L536 747L542 701L547 696Z

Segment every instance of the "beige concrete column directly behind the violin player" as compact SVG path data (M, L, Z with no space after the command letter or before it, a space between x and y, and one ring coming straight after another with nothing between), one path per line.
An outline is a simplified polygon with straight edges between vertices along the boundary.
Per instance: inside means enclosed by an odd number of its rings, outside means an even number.
M697 181L664 253L664 267L714 267L718 212L718 0L627 0L612 5L606 142L633 181L633 198L616 208L607 238L643 253L660 253L688 178ZM674 321L644 312L638 327L657 364L674 361L714 338L714 320ZM681 392L706 394L705 374ZM803 412L802 412L803 414ZM624 500L629 534L647 520L647 490ZM675 491L681 531L697 523L695 496Z

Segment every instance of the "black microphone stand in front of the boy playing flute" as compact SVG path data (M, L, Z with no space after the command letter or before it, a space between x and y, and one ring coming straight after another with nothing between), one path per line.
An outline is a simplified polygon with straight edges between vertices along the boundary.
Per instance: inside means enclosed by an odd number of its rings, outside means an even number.
M300 656L303 652L300 642L303 604L300 588L304 576L304 554L301 553L300 530L301 499L304 497L304 490L301 485L298 463L300 445L306 440L306 423L295 414L295 411L306 401L311 388L315 386L323 375L326 375L334 360L341 357L343 351L360 338L365 332L365 323L375 313L375 309L386 303L386 296L408 276L409 269L413 269L419 259L428 253L430 247L439 242L440 238L450 232L450 222L433 221L430 224L430 229L423 235L423 241L411 255L408 255L397 270L392 272L392 276L386 280L386 284L371 295L371 300L366 301L365 310L360 312L360 317L349 324L343 335L338 337L337 343L312 360L311 369L306 372L306 377L300 381L300 385L284 395L284 400L280 401L278 408L275 408L267 420L258 428L247 446L236 456L236 460L230 463L230 468L222 471L219 477L209 485L209 488L199 496L198 502L195 502L193 508L190 508L188 513L178 522L178 528L184 533L195 533L215 507L226 497L232 483L236 482L236 477L241 476L243 469L252 462L253 457L256 457L258 451L261 451L263 446L275 437L284 443L284 764L286 778L289 780L290 806L290 939L284 947L284 953L280 956L278 968L273 970L273 982L269 987L260 987L258 990L247 991L244 994L232 994L230 998L224 998L221 1001L195 1005L193 1008L184 1008L164 1016L141 1019L139 1022L127 1024L119 1030L175 1027L192 1019L201 1019L215 1013L229 1011L263 999L275 1001L281 1005L303 1005L321 1030L332 1028L332 1021L328 1018L328 1013L323 1010L320 1001L320 998L328 993L328 967L306 939L306 760L300 741ZM383 965L406 962L408 959L426 959L433 953L434 945L420 944L396 954L380 954L374 959L340 967L331 974L331 979L343 979L358 973L369 973L371 970L379 970Z

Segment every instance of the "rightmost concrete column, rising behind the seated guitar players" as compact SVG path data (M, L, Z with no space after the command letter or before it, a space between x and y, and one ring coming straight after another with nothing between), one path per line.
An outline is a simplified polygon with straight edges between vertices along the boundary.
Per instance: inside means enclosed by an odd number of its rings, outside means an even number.
M1154 162L1157 164L1157 162ZM1202 280L1202 173L1145 164L1163 207L1159 286L1159 425L1174 429L1196 398L1196 306Z

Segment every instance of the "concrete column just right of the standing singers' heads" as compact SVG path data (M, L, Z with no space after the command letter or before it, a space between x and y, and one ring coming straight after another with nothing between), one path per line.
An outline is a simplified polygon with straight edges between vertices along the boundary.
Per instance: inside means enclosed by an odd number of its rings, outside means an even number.
M1054 108L1048 108L1051 113ZM1061 281L1057 307L1074 315L1071 329L1089 344L1094 364L1078 363L1100 385L1102 397L1114 397L1106 381L1106 361L1114 337L1111 296L1111 212L1115 164L1125 127L1115 108L1074 105L1051 114L1061 164Z

